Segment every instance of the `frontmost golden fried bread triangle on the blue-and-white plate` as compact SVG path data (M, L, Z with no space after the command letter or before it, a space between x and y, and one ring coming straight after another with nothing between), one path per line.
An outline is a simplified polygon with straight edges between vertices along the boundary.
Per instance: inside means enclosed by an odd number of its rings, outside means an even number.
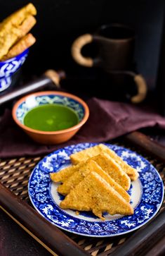
M103 212L109 214L133 214L133 208L107 183L98 173L91 171L70 193L60 202L62 209L92 211L102 220Z

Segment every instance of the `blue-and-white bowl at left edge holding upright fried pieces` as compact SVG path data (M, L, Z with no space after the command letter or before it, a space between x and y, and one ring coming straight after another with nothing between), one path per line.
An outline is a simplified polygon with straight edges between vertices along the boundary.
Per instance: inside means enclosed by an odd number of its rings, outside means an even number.
M6 90L12 82L13 74L18 71L27 58L29 49L6 61L0 61L0 92Z

